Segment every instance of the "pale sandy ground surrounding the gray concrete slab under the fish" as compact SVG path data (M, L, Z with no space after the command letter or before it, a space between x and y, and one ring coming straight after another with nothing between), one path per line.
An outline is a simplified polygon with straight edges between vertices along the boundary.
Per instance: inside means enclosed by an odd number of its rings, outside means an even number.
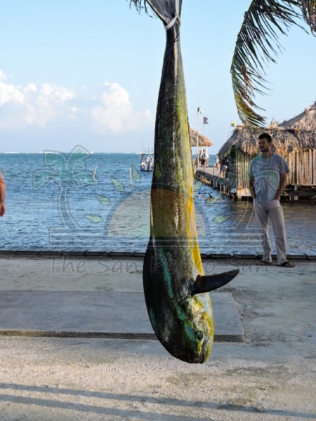
M190 365L156 340L0 336L0 420L315 420L316 262L239 265L245 341ZM140 260L0 258L1 290L142 290ZM1 309L0 309L1 311Z

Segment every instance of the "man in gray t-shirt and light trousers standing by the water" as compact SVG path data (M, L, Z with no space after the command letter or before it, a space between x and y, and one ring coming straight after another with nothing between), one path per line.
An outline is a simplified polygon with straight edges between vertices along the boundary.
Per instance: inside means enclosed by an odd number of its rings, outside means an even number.
M261 227L263 258L260 265L271 265L271 244L268 233L269 222L275 234L277 266L294 267L287 260L284 215L279 198L287 185L289 167L282 156L271 150L272 138L262 133L258 138L260 155L249 166L249 189L254 200L254 212Z

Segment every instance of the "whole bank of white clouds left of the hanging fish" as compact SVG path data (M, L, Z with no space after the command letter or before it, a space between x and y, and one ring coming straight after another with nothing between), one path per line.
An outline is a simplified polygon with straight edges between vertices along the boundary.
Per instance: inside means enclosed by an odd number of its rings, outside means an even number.
M149 110L135 109L129 93L118 83L105 83L97 98L79 97L52 83L7 83L0 70L0 128L57 128L77 121L96 133L124 133L147 128L154 119ZM89 98L88 98L89 97ZM91 105L92 104L92 105Z

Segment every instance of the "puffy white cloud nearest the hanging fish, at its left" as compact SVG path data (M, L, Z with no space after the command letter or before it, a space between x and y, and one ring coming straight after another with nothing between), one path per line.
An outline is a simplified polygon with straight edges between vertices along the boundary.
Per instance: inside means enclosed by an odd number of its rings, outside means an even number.
M91 110L98 133L133 131L152 123L151 112L134 109L129 93L118 83L105 83L105 91L98 101L100 105Z

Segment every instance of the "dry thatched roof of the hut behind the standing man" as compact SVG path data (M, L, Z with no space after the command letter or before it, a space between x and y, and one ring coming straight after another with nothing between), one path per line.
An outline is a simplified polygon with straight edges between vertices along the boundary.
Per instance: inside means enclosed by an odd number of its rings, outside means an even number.
M280 124L272 121L270 126L261 128L263 132L272 136L275 152L283 156L292 151L316 149L316 102L293 119ZM258 154L258 134L245 126L237 126L218 155L228 155L232 148Z

